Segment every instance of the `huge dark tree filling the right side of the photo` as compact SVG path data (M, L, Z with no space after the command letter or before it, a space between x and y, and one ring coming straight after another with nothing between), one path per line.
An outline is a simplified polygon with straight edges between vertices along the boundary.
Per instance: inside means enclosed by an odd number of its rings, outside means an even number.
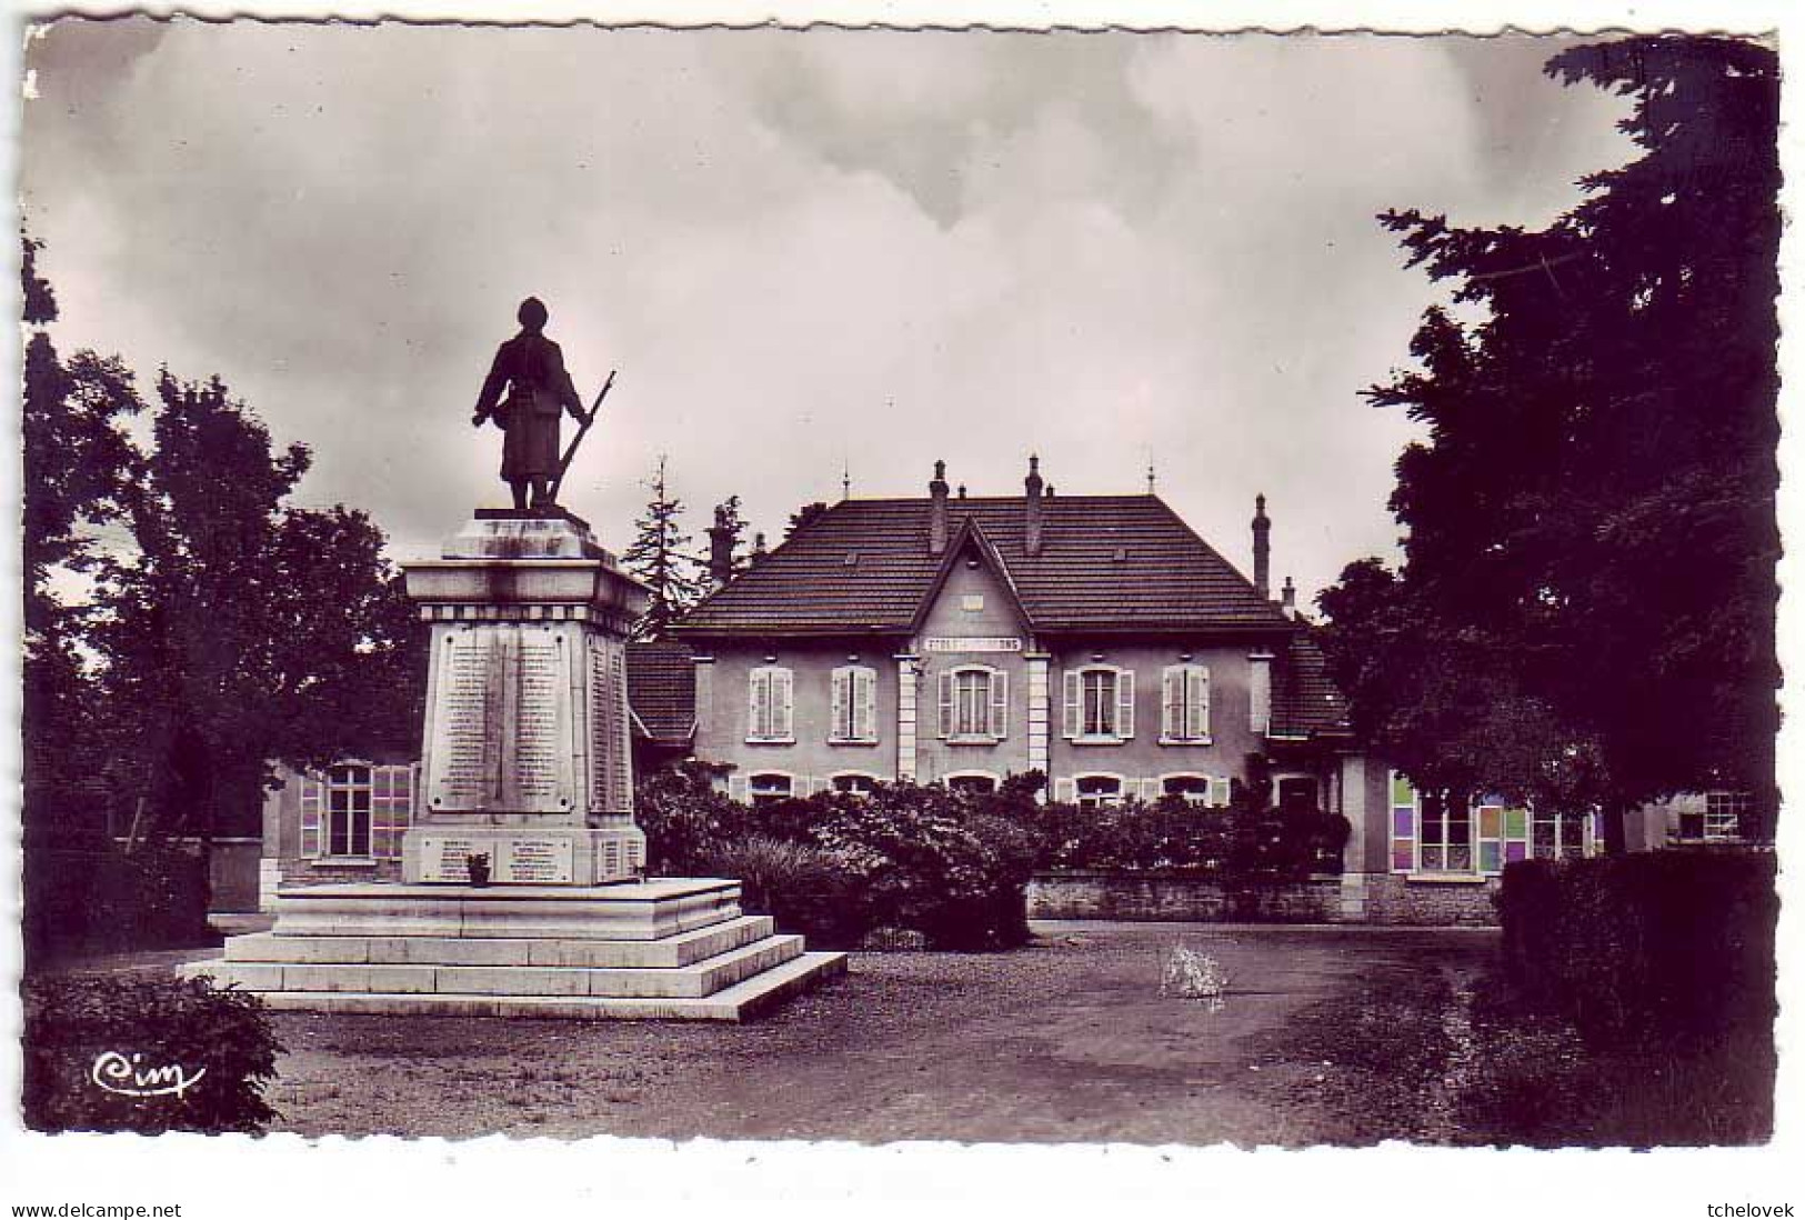
M1634 96L1643 152L1543 231L1383 217L1458 316L1370 392L1430 435L1397 462L1402 568L1319 601L1336 675L1424 787L1771 798L1778 65L1655 36L1545 70Z

